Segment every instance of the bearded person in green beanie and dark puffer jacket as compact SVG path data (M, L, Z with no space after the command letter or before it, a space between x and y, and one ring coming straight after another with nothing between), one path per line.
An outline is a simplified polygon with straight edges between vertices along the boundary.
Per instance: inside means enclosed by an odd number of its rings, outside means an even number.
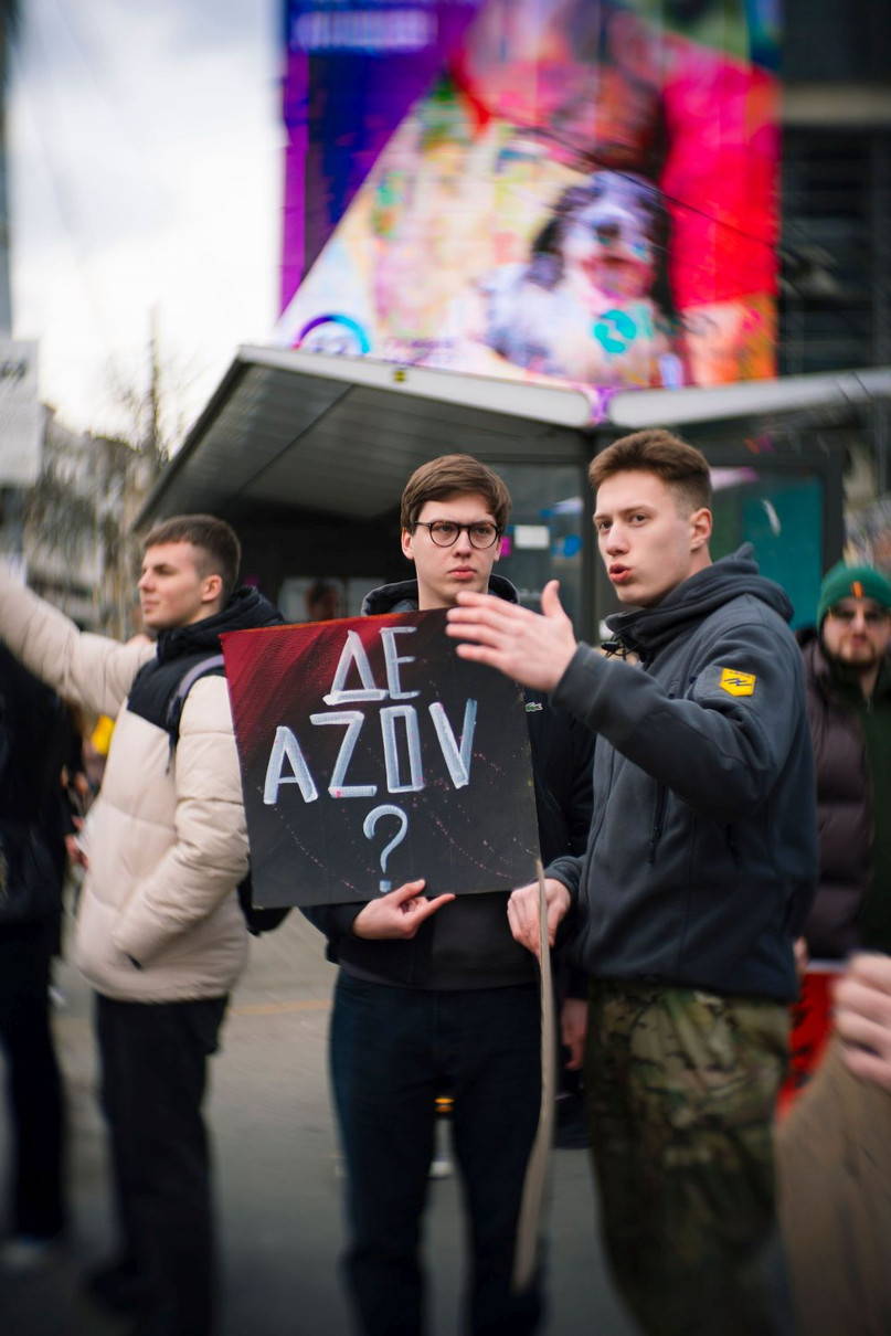
M891 953L891 580L839 562L818 624L799 632L820 826L820 887L804 925L811 958Z

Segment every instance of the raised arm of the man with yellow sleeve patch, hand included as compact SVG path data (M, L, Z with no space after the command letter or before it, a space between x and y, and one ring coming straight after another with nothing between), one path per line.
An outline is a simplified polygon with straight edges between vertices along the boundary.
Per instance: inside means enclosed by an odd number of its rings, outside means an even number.
M542 593L542 615L481 595L458 599L448 627L461 657L549 691L556 705L684 802L733 822L773 788L799 736L801 656L791 636L777 636L744 605L699 647L695 676L675 693L653 673L577 645L554 581ZM724 685L733 671L748 691Z

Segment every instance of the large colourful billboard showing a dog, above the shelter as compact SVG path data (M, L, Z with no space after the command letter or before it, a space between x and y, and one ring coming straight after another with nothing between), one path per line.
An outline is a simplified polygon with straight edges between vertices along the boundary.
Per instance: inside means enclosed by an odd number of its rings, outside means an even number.
M585 389L775 374L777 0L286 0L277 339Z

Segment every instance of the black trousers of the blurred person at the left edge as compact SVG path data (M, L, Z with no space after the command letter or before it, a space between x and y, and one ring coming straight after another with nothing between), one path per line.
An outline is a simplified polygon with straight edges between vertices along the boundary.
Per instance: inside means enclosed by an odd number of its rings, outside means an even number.
M64 1097L49 1023L53 925L0 929L0 1043L12 1124L11 1226L52 1238L65 1225Z

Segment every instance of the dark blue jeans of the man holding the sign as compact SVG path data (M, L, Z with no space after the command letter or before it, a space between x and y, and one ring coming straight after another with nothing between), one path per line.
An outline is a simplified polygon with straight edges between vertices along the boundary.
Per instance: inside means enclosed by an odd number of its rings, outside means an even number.
M454 1100L454 1154L469 1214L466 1329L524 1336L538 1283L510 1284L517 1216L541 1104L534 985L426 991L341 971L331 1077L347 1168L347 1280L366 1336L425 1329L418 1261L438 1094Z

